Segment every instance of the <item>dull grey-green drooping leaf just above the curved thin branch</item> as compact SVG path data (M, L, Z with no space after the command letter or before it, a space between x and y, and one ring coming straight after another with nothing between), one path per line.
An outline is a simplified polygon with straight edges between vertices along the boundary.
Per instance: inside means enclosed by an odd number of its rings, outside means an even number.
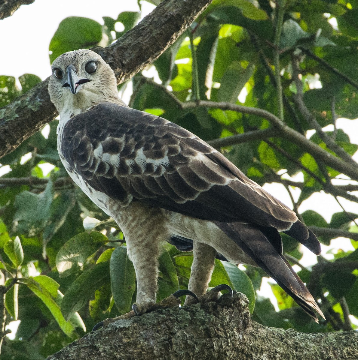
M218 90L218 100L230 103L237 102L241 90L249 81L254 71L254 64L248 64L246 68L239 61L233 61L226 69L221 78L221 86Z

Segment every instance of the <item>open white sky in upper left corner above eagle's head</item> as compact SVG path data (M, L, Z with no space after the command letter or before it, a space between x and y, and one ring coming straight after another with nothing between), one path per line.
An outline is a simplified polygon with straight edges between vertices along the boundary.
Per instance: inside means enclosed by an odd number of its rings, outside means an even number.
M32 73L42 80L50 76L48 46L58 24L68 16L88 17L103 24L102 16L117 19L123 11L138 10L133 0L36 0L23 5L0 21L0 74L18 77Z

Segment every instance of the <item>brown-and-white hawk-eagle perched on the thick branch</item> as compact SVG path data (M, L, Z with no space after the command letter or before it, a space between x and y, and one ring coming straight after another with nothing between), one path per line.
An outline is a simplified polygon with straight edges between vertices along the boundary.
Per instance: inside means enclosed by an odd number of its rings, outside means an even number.
M283 256L279 231L315 254L320 244L295 213L220 152L182 127L129 108L109 65L91 50L52 64L60 113L57 149L84 193L125 236L137 279L136 312L156 302L164 242L193 251L189 290L205 294L216 256L260 266L316 321L313 296ZM185 304L193 302L187 296Z

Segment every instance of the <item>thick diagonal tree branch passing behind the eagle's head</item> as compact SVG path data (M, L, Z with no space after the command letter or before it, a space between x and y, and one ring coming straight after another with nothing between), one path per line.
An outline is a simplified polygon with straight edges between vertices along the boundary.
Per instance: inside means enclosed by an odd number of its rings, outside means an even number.
M166 0L108 48L92 48L109 63L118 84L157 59L211 0ZM0 109L0 157L57 116L47 91L48 78Z

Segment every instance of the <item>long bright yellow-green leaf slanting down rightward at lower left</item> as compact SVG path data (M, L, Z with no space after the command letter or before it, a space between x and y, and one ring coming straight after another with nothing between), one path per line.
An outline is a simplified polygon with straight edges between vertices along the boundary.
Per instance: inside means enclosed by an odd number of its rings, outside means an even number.
M54 319L60 325L61 330L69 337L74 331L73 325L64 319L58 305L57 291L60 286L56 281L45 275L38 275L34 278L21 278L21 283L25 284L32 292L38 296L47 308L51 311Z

